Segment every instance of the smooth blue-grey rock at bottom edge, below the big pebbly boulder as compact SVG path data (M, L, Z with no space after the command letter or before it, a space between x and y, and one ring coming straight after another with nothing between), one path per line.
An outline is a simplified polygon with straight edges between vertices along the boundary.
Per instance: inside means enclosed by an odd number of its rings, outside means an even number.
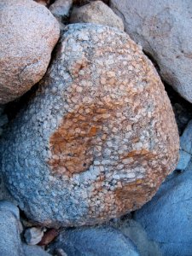
M50 246L61 248L68 256L138 256L131 240L111 227L82 228L62 232Z

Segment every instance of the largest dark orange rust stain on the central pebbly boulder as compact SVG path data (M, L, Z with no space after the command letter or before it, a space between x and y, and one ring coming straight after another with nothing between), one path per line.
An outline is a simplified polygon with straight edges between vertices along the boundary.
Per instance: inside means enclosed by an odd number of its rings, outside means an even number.
M52 134L49 145L52 157L49 160L53 172L67 174L84 172L93 162L96 138L106 133L102 126L108 119L101 113L111 113L112 109L98 109L96 104L79 106L73 113L67 113L60 127ZM105 140L108 134L106 134ZM104 141L105 141L104 140ZM102 140L102 143L104 143Z

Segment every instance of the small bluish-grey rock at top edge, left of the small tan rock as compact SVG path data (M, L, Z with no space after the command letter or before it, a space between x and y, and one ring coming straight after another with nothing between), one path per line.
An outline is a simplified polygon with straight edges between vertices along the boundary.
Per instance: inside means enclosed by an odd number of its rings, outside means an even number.
M50 5L49 11L61 24L66 24L72 5L73 0L56 0L55 3Z

